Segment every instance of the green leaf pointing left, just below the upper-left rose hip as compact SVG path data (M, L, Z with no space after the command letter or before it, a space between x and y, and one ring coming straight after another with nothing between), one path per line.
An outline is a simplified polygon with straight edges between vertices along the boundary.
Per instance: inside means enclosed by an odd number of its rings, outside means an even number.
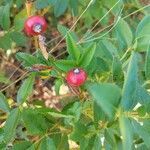
M23 61L25 67L30 67L32 65L38 64L38 59L31 54L18 52L16 58L20 61Z

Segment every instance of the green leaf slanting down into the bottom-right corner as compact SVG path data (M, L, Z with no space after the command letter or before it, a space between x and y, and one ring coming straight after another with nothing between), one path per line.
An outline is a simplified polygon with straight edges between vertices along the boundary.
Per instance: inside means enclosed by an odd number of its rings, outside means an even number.
M132 120L132 124L135 132L143 139L147 148L150 148L150 133L147 132L147 130L145 130L144 127L137 123L135 120Z

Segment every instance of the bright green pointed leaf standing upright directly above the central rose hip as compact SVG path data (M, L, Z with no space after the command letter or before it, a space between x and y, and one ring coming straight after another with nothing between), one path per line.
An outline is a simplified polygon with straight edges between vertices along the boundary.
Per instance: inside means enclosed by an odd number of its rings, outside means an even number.
M80 57L80 49L71 37L71 35L68 34L67 36L67 51L69 55L76 61L78 62L79 57Z

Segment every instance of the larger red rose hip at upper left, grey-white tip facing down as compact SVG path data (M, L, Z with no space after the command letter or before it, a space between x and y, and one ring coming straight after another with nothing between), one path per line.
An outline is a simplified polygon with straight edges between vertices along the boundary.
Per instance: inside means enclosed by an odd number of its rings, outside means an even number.
M25 21L24 24L24 30L29 36L40 35L45 32L46 29L46 20L41 16L31 16Z

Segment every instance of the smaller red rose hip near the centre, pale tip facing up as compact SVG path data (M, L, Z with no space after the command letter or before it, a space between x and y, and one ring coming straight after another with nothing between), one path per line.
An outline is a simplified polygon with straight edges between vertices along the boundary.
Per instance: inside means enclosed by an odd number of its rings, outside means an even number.
M71 86L81 86L87 79L87 74L83 69L75 68L66 75L66 81Z

